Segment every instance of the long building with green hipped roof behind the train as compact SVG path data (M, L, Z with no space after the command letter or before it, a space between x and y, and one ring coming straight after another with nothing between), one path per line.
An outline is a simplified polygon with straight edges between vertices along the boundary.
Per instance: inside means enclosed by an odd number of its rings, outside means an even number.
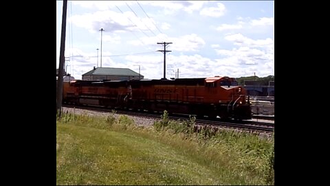
M113 80L129 81L133 79L144 79L144 76L129 68L95 68L82 75L83 80Z

